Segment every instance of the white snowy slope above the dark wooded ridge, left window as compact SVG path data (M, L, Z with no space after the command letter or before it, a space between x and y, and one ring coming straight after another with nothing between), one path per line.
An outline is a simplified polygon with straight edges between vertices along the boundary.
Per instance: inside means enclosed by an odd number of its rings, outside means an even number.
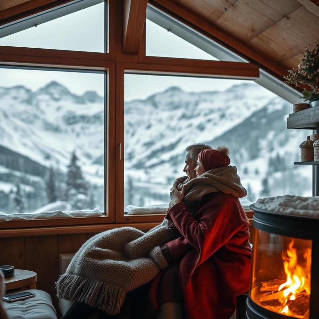
M51 82L36 92L23 86L0 88L0 144L44 166L66 171L76 150L88 175L104 152L104 99L82 96ZM101 172L103 175L103 172Z

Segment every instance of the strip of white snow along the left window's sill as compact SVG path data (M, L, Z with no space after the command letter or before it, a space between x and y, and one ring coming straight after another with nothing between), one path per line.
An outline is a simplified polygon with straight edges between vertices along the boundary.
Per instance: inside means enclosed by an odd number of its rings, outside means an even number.
M82 211L43 211L41 213L26 213L26 214L6 214L0 212L0 221L5 220L26 220L26 219L41 219L41 218L70 218L70 217L95 217L102 216L103 213L98 209L82 210Z

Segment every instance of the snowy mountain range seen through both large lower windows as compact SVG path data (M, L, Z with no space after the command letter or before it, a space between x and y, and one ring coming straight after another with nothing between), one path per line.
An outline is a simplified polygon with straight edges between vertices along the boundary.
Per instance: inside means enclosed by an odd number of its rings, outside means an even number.
M293 161L308 133L286 129L290 110L289 103L253 82L223 92L171 87L125 102L125 205L169 200L171 183L183 175L184 149L195 142L229 146L231 164L254 194L251 200L265 188L265 177L269 195L282 195L280 189L306 195L311 174ZM48 169L58 170L63 185L73 151L85 180L102 189L104 122L104 98L94 91L80 96L57 82L35 92L21 85L0 87L0 203L9 207L8 194L19 179L26 200L33 200L29 210L48 204L43 190ZM285 174L299 176L299 186L287 186Z

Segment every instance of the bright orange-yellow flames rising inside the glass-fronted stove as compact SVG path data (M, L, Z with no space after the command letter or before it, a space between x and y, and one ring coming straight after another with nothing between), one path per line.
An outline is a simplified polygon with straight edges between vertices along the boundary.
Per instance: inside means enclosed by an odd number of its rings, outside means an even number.
M310 295L311 249L305 249L303 257L306 264L301 266L298 264L297 250L293 248L293 242L294 240L290 242L286 251L288 258L283 257L286 282L278 288L278 292L282 292L280 301L283 305L279 312L285 315L293 315L289 309L288 300L295 300L296 295L303 291Z

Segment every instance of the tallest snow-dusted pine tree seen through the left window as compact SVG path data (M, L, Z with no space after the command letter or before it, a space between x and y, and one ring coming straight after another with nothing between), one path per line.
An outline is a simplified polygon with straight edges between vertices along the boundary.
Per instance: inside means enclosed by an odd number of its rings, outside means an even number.
M78 157L75 152L71 155L71 162L68 165L66 175L66 190L64 199L69 201L72 209L80 210L87 204L88 186L82 175L81 167L77 163Z

